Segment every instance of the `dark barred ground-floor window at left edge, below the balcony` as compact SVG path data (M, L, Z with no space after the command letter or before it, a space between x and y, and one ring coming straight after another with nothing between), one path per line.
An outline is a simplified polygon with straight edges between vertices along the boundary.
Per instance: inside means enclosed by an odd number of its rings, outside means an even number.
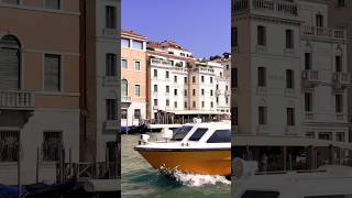
M0 131L0 162L18 161L19 141L19 131Z

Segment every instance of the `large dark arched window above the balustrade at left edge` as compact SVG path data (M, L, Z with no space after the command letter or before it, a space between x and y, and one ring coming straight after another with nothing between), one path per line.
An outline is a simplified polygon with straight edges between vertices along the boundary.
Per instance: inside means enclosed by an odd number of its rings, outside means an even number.
M0 90L20 88L21 44L13 35L0 38Z

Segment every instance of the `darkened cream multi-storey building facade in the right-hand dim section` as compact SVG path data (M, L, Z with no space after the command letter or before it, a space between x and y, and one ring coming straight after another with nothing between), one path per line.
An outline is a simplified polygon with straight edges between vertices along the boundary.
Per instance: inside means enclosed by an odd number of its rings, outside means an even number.
M346 37L328 25L326 1L232 8L235 132L346 142Z

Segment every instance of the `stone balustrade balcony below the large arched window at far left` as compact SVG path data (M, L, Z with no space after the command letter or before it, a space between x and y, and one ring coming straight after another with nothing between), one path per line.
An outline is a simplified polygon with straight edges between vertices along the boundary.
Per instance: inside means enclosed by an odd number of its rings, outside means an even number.
M0 109L34 109L34 94L0 90Z

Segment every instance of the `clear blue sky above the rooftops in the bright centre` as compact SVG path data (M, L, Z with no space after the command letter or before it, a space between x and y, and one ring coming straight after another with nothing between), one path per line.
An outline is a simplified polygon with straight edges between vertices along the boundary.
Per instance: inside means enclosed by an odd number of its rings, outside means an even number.
M122 0L122 29L175 40L195 57L231 53L231 0Z

